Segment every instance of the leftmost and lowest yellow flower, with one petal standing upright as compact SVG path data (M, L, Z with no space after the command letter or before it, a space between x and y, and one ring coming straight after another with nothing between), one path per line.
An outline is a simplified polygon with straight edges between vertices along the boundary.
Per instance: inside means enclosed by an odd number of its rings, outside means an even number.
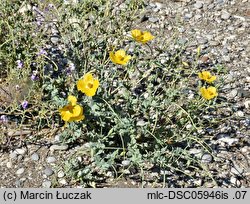
M83 115L83 108L77 105L77 99L75 96L68 96L69 104L59 109L62 119L66 122L80 121L85 117Z

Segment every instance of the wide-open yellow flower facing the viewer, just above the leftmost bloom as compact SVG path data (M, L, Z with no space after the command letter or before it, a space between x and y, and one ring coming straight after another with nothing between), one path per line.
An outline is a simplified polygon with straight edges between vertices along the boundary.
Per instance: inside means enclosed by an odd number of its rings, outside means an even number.
M98 79L94 79L91 73L83 76L83 79L78 80L77 90L85 93L87 96L94 96L99 87Z

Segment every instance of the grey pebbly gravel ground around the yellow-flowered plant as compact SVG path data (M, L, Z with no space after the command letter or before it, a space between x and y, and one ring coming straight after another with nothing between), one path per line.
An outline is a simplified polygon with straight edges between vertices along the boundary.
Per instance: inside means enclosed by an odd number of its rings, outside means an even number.
M185 172L193 176L186 180L172 172L156 169L145 173L143 183L138 182L136 173L119 181L110 173L107 183L100 186L157 187L162 184L162 176L167 175L167 187L250 187L250 1L149 1L142 19L140 27L157 31L167 38L177 33L181 40L188 42L187 58L189 50L191 52L200 45L201 61L223 64L228 69L223 76L225 82L220 95L230 106L206 117L220 114L230 116L230 119L223 120L217 129L206 130L213 136L209 144L214 155L203 154L198 148L190 150L213 175L213 182L204 182L195 172ZM57 43L56 38L53 41ZM20 134L16 133L16 137ZM28 136L30 133L22 134ZM77 186L65 177L61 167L65 158L80 147L69 148L57 143L56 137L47 141L49 145L28 144L1 152L0 187Z

